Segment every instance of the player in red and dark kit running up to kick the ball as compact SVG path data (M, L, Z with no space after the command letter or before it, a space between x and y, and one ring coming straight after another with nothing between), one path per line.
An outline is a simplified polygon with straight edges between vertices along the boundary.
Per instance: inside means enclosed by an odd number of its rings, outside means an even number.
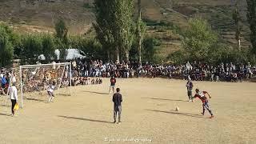
M214 118L214 114L210 110L208 99L206 98L206 94L208 94L209 98L211 98L210 94L206 91L200 91L199 89L196 89L195 92L196 92L196 94L194 95L193 98L199 98L202 101L202 113L201 114L204 115L205 110L207 109L211 115L210 118Z

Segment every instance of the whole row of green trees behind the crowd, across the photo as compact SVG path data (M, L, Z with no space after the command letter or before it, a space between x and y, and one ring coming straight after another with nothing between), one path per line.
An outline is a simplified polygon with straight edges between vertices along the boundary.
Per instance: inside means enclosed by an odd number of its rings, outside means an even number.
M181 30L182 49L170 54L165 60L175 63L186 60L204 62L256 62L256 0L246 0L247 20L250 25L249 49L230 46L203 18L190 18L186 30ZM77 49L88 59L105 61L159 62L156 52L161 40L146 35L146 23L142 21L141 0L138 14L134 14L133 0L94 0L96 21L93 28L95 38L70 36L62 18L55 23L54 34L18 34L9 26L0 25L0 65L6 66L13 58L35 62L43 54L46 60L65 60L67 50ZM234 21L239 25L239 13ZM240 35L239 28L236 39ZM59 50L57 56L55 50Z

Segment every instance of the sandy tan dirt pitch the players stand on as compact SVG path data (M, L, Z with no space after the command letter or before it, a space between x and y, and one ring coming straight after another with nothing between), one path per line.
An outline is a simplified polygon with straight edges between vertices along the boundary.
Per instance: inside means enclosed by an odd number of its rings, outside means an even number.
M200 115L199 99L187 102L185 81L134 78L117 85L121 124L111 123L112 95L104 79L102 85L73 87L72 96L52 103L46 95L30 96L14 117L10 106L0 106L0 143L256 143L256 83L194 82L212 96L212 119L207 111Z

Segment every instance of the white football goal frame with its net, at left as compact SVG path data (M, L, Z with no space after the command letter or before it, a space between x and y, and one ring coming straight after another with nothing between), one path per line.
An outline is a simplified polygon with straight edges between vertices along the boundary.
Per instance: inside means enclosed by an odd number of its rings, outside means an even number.
M70 62L20 66L21 106L24 106L24 99L46 102L47 88L53 82L56 84L54 95L71 95L71 77Z

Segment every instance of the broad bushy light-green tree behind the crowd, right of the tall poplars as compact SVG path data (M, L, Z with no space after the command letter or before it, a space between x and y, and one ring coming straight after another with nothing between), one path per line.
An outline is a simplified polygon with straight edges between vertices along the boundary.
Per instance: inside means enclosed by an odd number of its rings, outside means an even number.
M182 34L182 49L169 55L174 63L201 61L211 64L219 62L256 63L255 47L240 49L230 46L222 37L211 29L202 18L191 18L189 27Z

